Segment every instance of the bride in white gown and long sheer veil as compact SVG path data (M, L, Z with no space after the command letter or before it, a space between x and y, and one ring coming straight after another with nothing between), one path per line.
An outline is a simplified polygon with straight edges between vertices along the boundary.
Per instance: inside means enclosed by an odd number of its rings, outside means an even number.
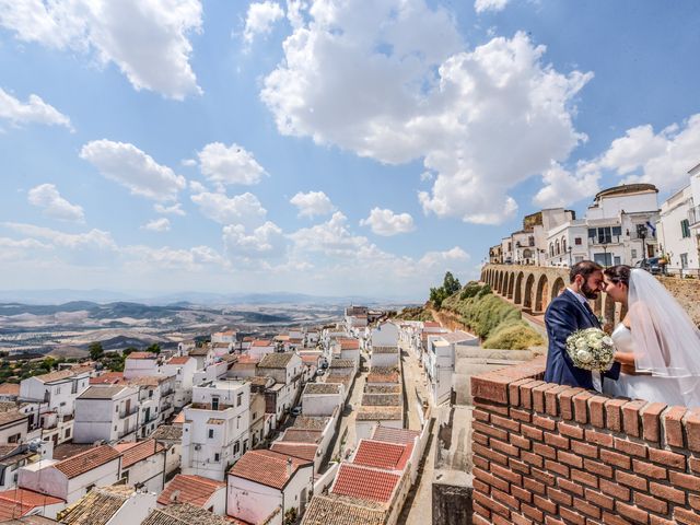
M646 270L618 265L604 271L604 291L627 306L612 331L621 373L606 381L614 396L700 407L700 330Z

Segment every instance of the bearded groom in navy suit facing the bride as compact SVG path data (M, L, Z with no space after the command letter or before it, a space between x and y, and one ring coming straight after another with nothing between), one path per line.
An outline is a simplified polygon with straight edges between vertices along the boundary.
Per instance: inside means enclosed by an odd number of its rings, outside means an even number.
M567 353L567 338L576 330L600 328L588 300L598 298L603 288L603 268L592 260L582 260L571 267L569 281L569 287L549 304L545 314L549 338L545 381L602 392L603 380L599 373L573 365ZM615 363L604 375L617 380L620 364Z

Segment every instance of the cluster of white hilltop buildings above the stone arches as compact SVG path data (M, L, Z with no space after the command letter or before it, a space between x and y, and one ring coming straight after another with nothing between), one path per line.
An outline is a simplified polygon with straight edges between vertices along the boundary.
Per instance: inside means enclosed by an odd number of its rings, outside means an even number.
M530 213L489 249L489 262L569 267L585 259L700 277L700 164L688 177L661 205L656 186L627 184L599 191L580 219L564 208Z

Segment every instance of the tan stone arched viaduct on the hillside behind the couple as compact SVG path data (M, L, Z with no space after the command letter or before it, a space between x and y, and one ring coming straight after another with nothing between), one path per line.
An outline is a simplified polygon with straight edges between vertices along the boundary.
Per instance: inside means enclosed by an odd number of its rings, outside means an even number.
M481 281L489 284L493 292L512 301L523 312L541 315L551 300L569 283L569 269L487 265L481 269ZM591 306L595 315L603 317L606 324L619 323L622 315L621 305L616 305L605 293L600 293Z

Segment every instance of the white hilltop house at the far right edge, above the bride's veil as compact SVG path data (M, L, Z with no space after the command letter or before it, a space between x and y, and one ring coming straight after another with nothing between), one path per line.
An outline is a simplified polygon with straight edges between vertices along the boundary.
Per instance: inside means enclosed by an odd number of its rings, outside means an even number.
M689 214L695 208L690 185L676 191L661 205L657 222L661 250L668 255L667 271L672 273L690 272L698 276L698 236L690 230Z

